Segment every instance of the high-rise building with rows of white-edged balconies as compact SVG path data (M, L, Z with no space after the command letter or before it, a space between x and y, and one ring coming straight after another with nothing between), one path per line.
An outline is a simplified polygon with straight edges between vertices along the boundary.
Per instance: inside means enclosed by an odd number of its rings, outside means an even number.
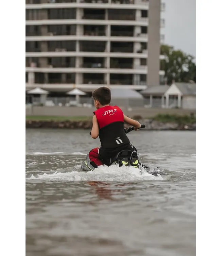
M26 0L26 89L159 85L160 0Z

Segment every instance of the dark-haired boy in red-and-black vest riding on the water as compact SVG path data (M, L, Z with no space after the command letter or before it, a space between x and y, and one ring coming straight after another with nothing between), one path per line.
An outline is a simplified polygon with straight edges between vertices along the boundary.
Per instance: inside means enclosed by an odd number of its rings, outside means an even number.
M135 151L134 157L137 159L137 150L126 136L124 122L134 126L135 130L141 127L140 123L125 116L118 106L109 105L111 91L107 87L96 89L92 97L97 110L92 119L91 137L97 139L99 136L101 147L89 152L90 164L97 168L104 164L105 159L114 157L122 150Z

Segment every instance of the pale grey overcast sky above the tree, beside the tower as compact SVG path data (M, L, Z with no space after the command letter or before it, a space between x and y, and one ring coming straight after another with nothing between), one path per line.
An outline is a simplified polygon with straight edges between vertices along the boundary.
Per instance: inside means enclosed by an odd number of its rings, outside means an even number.
M195 57L195 0L162 0L166 10L161 17L165 19L165 44L181 49Z

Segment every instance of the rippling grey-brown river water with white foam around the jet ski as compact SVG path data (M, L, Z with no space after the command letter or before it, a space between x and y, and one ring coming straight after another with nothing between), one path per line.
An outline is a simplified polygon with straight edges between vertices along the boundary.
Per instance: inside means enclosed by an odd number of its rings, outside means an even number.
M132 131L141 162L81 172L89 130L26 130L27 256L195 255L195 132Z

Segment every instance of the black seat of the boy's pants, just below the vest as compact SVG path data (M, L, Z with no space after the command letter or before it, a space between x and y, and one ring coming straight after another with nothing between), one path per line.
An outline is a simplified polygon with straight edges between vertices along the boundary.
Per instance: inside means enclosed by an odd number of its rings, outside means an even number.
M111 149L100 147L99 148L99 159L104 160L104 159L113 158L119 152L121 152L122 150L135 151L133 157L137 157L137 149L136 149L136 147L129 143L127 145L124 145L124 146L121 146L121 147L118 147L118 148L111 148Z

